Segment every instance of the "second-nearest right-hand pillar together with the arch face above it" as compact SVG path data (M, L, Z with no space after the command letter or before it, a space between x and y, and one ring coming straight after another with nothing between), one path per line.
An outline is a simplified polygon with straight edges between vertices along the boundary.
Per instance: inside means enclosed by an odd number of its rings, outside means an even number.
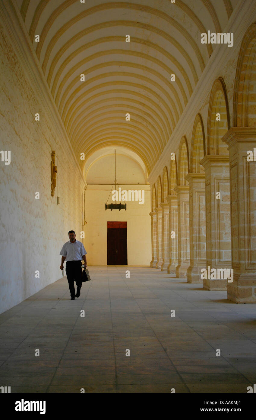
M220 120L216 114L220 113ZM230 165L227 144L222 140L230 129L228 97L224 80L212 85L207 121L205 169L206 266L231 268ZM204 279L204 289L225 290L224 279Z

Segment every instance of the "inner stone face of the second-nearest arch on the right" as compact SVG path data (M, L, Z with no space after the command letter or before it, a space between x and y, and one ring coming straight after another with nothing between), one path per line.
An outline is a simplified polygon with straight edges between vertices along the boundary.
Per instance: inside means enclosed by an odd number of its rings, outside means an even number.
M220 121L217 121L220 114ZM230 129L228 96L224 80L219 77L212 85L207 120L207 155L226 155L228 147L222 141L224 134Z

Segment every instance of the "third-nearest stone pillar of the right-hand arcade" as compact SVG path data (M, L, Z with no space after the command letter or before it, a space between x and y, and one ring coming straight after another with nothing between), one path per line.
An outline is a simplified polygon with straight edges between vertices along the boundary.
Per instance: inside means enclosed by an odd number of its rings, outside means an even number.
M189 182L189 253L188 283L202 283L201 269L206 268L205 175L188 173Z

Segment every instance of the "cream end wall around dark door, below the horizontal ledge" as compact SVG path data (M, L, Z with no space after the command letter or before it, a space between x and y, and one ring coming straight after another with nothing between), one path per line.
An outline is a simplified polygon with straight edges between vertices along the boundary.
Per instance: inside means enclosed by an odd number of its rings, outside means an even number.
M105 210L112 185L87 185L85 192L85 249L89 265L107 263L107 222L127 221L128 265L149 265L151 260L150 186L120 185L122 190L145 190L145 203L127 201L127 210ZM111 197L109 204L111 203ZM123 204L123 202L122 202Z

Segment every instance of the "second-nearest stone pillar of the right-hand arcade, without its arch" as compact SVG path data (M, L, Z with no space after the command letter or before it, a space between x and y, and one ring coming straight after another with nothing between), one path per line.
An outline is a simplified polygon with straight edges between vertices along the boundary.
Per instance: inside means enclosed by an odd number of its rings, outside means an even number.
M206 155L205 170L206 269L231 268L229 156ZM220 199L217 199L217 192ZM225 290L224 278L203 280L206 290Z

